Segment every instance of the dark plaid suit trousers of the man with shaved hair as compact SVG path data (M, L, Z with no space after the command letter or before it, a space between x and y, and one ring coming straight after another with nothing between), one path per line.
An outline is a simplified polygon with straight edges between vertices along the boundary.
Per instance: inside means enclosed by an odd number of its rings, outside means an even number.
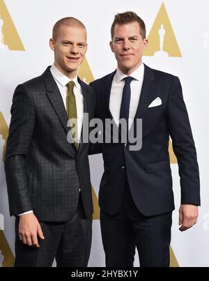
M91 250L92 216L86 218L82 197L77 211L67 222L40 222L44 240L40 248L24 245L19 239L16 218L15 267L50 267L56 259L57 267L86 267Z

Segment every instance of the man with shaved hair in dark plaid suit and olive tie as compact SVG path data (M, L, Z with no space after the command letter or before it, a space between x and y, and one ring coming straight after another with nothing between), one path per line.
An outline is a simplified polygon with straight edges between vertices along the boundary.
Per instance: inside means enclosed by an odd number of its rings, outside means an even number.
M77 77L87 50L84 24L59 20L49 46L54 65L17 86L11 108L5 171L16 216L15 266L52 266L54 257L57 266L87 266L93 203L82 131L95 98Z

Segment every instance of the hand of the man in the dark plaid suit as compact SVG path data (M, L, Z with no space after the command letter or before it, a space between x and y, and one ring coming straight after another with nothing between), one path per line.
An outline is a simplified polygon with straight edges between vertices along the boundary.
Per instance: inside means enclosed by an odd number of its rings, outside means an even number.
M38 236L41 239L45 238L36 216L33 213L20 215L19 238L22 243L29 246L39 247Z

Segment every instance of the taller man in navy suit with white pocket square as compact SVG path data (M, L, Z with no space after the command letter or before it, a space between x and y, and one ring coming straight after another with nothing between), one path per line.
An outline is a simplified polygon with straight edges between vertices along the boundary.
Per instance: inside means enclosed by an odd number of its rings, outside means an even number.
M118 68L91 83L96 116L103 122L114 119L118 126L123 118L130 129L142 119L141 149L130 149L129 142L101 144L99 202L106 266L133 266L136 247L141 266L169 266L174 209L169 136L180 174L180 231L198 218L199 167L180 81L142 63L147 45L146 26L137 14L116 15L110 47Z

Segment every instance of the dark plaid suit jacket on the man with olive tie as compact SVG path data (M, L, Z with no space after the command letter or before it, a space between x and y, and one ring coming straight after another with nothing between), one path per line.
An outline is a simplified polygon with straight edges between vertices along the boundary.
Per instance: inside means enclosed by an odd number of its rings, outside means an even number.
M91 121L93 90L79 84ZM76 151L68 142L68 116L49 68L17 86L11 115L5 160L10 215L33 210L38 220L64 222L76 211L79 188L86 216L92 215L88 143L81 141Z

